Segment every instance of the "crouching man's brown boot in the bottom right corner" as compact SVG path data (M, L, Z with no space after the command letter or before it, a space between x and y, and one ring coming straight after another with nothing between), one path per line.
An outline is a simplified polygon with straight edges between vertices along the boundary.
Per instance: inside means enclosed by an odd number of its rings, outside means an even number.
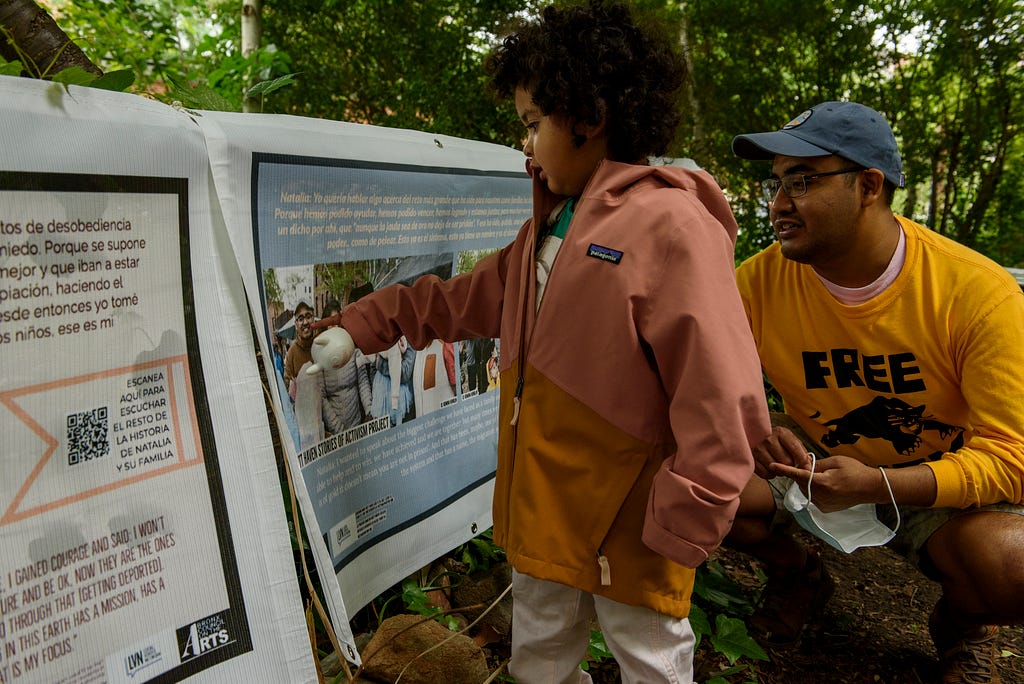
M995 668L999 628L980 625L968 629L957 628L940 616L935 606L928 619L928 631L935 643L941 662L942 684L1000 684Z

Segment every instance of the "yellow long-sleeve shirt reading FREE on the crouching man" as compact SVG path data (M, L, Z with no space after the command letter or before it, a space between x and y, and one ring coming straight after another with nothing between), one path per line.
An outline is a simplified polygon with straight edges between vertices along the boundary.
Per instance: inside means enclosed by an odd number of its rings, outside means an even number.
M775 244L737 270L762 367L834 454L927 463L934 506L1024 502L1024 293L986 257L897 217L906 259L847 306Z

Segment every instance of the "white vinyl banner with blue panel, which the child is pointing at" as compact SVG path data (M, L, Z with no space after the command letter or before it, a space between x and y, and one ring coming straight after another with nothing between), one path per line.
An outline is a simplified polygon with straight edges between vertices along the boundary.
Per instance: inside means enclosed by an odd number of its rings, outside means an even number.
M524 158L366 125L198 120L321 573L337 575L355 610L490 526L500 349L400 340L309 374L310 324L394 283L452 277L511 242L530 213Z

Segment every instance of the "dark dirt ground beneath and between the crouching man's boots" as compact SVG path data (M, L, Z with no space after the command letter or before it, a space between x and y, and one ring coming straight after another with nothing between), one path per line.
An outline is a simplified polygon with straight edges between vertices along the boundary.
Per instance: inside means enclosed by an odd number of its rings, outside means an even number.
M808 539L808 538L805 538ZM928 636L928 615L939 586L883 548L846 555L815 544L836 579L837 591L823 612L805 630L795 649L769 652L757 662L757 679L732 676L735 684L930 684L938 681L938 660ZM824 548L822 548L824 547ZM741 554L720 550L715 558L752 598L759 581ZM1024 635L1020 628L1000 633L999 675L1004 684L1024 684ZM701 643L695 658L696 681L705 682L728 661ZM592 673L594 681L617 682L617 667Z

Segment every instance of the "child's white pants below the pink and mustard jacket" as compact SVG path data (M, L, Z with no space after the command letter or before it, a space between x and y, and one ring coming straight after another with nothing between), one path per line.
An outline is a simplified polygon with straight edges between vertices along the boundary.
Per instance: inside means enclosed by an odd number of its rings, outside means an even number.
M512 660L517 684L589 684L580 661L597 618L624 684L691 684L690 621L512 573Z

